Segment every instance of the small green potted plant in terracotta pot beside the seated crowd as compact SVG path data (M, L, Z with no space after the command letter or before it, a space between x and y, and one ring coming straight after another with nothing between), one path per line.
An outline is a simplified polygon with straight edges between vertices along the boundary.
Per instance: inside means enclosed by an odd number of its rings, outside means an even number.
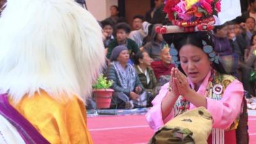
M93 96L96 101L97 108L109 108L111 104L113 89L113 81L108 80L103 74L100 74L95 84L93 84Z

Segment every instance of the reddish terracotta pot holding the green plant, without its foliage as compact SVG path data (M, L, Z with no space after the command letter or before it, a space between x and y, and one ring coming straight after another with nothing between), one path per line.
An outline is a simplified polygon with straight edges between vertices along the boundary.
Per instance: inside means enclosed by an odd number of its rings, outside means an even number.
M94 89L93 95L95 97L97 108L110 108L112 89Z

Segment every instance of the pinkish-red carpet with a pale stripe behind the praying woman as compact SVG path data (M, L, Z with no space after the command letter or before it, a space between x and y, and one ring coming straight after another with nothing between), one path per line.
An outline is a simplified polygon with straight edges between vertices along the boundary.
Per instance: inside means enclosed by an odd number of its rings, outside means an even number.
M143 144L154 132L145 115L98 116L88 118L95 144ZM250 144L256 144L256 116L249 118Z

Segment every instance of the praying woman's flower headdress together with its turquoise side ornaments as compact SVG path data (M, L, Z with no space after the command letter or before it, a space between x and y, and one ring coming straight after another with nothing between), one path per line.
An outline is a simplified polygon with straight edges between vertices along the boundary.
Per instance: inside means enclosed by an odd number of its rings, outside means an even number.
M195 31L211 31L215 23L214 15L220 12L220 0L168 0L164 6L164 12L174 26L157 27L157 33L162 33L166 42L170 44L170 54L172 63L176 67L180 64L178 51L168 33L189 33ZM185 36L185 35L183 35ZM206 35L205 35L206 36ZM207 36L207 38L211 36ZM209 39L208 38L208 39ZM213 47L202 40L203 51L208 54L209 60L219 63L218 56L213 51Z

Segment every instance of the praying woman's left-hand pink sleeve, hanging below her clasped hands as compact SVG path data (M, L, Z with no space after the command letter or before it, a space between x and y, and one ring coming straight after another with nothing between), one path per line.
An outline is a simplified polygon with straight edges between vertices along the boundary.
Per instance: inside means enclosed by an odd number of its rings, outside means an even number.
M161 103L168 92L168 86L168 83L162 86L159 94L152 101L153 107L146 114L148 125L154 129L154 131L157 131L161 126L174 117L174 113L171 111L171 113L164 120L162 118Z

